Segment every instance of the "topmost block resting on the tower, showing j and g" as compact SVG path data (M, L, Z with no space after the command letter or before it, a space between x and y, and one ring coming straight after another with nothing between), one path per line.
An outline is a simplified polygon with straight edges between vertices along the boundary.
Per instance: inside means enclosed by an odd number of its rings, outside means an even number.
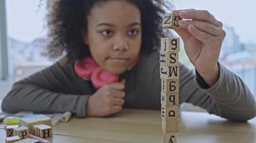
M180 51L180 38L161 38L162 52L178 52Z

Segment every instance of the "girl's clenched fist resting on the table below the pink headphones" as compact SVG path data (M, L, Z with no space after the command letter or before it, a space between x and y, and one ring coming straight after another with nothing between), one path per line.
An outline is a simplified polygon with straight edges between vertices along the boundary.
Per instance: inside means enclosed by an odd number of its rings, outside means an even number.
M106 84L88 99L86 116L105 117L122 110L124 104L124 79L122 82Z

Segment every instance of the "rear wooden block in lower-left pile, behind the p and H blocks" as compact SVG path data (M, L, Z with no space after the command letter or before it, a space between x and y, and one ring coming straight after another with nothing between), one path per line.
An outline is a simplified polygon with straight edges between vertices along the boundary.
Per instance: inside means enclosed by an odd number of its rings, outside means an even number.
M52 126L52 119L43 114L28 114L20 119L20 125L29 128L29 134L33 134L35 124L46 124Z

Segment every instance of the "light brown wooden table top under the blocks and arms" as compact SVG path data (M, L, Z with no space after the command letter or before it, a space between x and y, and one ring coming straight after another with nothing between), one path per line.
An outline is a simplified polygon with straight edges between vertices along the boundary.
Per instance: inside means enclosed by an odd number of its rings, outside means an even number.
M162 139L160 111L124 109L106 118L70 119L53 128L52 142L160 143ZM4 142L5 132L0 129ZM181 112L178 143L256 142L256 119L229 122L201 112Z

